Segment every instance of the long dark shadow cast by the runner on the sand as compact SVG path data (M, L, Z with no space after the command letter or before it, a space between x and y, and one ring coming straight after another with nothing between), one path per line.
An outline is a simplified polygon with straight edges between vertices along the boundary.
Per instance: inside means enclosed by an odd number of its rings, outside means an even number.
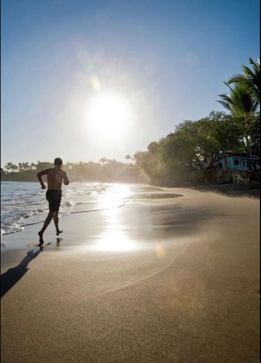
M29 262L33 260L33 258L36 258L42 251L43 249L28 251L19 265L8 269L8 271L1 274L1 298L10 290L10 288L13 288L15 283L22 279L22 276L29 270L27 268Z

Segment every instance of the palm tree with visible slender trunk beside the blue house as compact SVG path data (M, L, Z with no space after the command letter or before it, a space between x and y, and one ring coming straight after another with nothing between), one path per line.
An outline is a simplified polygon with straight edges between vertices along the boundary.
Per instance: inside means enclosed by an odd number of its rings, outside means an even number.
M255 164L249 135L251 118L258 108L258 101L256 101L255 98L248 93L244 85L236 83L235 87L232 88L228 83L224 83L229 87L230 94L218 95L222 98L222 101L219 100L218 102L231 112L234 120L239 124L239 126L241 126L242 138L246 145L248 165L253 170L255 168Z

